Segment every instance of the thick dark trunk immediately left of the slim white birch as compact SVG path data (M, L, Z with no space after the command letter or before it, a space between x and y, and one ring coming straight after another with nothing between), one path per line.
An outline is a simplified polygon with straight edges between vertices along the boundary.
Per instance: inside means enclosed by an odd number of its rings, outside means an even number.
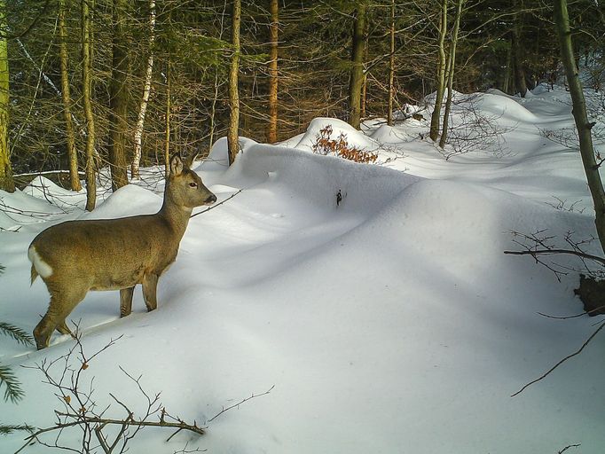
M112 75L109 83L109 168L112 189L128 184L126 139L128 136L129 92L126 85L129 55L126 36L127 0L114 0L114 37L112 41Z

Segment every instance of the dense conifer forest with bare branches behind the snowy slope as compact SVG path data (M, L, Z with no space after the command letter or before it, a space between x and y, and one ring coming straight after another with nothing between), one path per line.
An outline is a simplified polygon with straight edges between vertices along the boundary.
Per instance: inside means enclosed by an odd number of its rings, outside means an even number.
M574 2L570 16L598 90L603 6ZM0 187L42 170L69 184L71 168L80 189L77 170L91 185L110 165L117 188L140 161L207 151L230 124L274 143L318 116L392 123L448 85L523 97L562 74L552 18L524 0L3 0Z

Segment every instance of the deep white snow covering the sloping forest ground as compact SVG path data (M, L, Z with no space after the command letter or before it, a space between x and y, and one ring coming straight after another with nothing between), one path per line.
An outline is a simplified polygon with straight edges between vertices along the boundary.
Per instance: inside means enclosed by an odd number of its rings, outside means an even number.
M454 124L465 106L458 97ZM568 231L595 235L578 152L540 132L572 126L568 94L491 91L468 102L503 133L499 150L475 141L471 153L445 160L423 138L427 121L413 119L393 128L367 122L363 133L316 119L280 145L242 139L232 168L224 139L216 143L194 168L219 201L243 191L193 217L160 279L158 309L147 313L138 289L133 314L120 319L117 292L92 292L70 317L89 353L122 336L84 372L98 406L113 403L107 416L123 415L110 392L133 409L145 404L122 366L142 375L147 392L161 391L170 413L208 426L200 438L181 433L168 443L170 432L148 428L130 452L171 453L185 443L238 454L605 450L602 335L511 397L602 319L538 315L581 312L578 275L560 283L530 258L503 254L519 248L511 231L546 229L556 244ZM333 137L344 132L350 145L377 150L380 164L310 153L327 124ZM66 219L152 213L161 206L159 172L147 169L151 188L130 184L91 214L83 193L48 180L0 192L12 207L0 212L0 320L30 332L47 308L43 282L29 286L27 246L39 231ZM596 243L587 249L599 252ZM53 423L62 407L28 367L73 345L57 333L42 351L0 338L0 363L26 391L17 405L0 403L0 422ZM0 451L17 450L23 436L0 438ZM63 440L78 446L76 432Z

